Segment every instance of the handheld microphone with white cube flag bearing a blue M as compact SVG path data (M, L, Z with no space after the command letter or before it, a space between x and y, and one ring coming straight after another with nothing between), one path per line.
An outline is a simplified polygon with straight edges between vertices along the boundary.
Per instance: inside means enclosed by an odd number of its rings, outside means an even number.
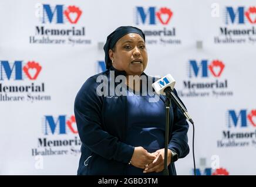
M175 83L176 81L173 76L171 76L171 74L167 74L166 76L160 78L158 81L154 82L152 86L157 94L166 95L167 98L173 99L181 112L183 112L184 116L186 116L187 120L194 124L191 116L187 112L187 109L183 106L183 104L173 92Z

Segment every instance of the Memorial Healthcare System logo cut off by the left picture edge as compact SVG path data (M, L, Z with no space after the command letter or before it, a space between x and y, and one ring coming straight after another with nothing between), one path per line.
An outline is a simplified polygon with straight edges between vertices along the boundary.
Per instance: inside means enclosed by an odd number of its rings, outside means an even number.
M38 80L42 69L36 61L0 60L0 102L50 101L45 82Z

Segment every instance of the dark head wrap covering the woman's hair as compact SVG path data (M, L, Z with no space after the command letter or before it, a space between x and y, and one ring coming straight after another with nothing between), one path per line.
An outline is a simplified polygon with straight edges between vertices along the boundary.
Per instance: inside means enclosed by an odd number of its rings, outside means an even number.
M109 58L109 50L113 49L114 45L121 37L123 37L124 35L129 34L129 33L140 34L140 36L142 36L142 38L145 41L145 34L142 32L142 30L138 29L137 27L122 26L122 27L118 27L116 30L114 30L114 32L112 32L111 34L109 34L109 36L107 36L107 41L103 47L103 49L105 51L105 64L106 64L107 70L109 70L109 68L112 65L112 61Z

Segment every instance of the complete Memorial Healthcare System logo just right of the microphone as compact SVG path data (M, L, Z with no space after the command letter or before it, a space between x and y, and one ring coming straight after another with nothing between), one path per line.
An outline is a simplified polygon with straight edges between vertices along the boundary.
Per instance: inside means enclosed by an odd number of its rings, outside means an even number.
M233 96L228 90L228 79L225 78L227 65L222 60L188 60L187 77L183 89L178 91L184 97Z

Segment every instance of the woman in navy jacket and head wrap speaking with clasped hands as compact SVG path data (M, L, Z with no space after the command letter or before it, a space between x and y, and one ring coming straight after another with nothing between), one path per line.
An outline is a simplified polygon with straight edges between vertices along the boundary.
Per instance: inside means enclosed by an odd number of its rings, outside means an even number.
M164 96L149 102L150 91L140 89L147 82L128 79L129 75L150 79L144 74L147 66L144 33L137 27L118 27L107 37L104 50L107 70L87 79L75 99L76 124L82 141L78 175L162 175ZM114 84L116 88L113 81L121 75L127 78L124 82L127 86L122 86L129 88L125 91L127 95L109 96L111 88L99 94L99 76L106 77L107 86ZM167 158L170 175L176 175L177 157L183 158L189 152L187 131L186 117L171 103Z

